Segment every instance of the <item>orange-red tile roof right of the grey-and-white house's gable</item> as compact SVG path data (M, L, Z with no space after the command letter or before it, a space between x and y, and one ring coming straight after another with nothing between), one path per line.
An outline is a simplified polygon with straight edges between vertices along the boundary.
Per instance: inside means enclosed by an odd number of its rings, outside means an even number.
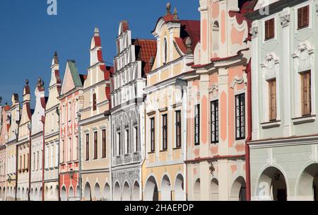
M157 41L156 40L141 40L134 41L134 45L139 46L136 49L136 56L138 60L143 62L143 74L148 74L151 71L150 59L155 59L157 53Z

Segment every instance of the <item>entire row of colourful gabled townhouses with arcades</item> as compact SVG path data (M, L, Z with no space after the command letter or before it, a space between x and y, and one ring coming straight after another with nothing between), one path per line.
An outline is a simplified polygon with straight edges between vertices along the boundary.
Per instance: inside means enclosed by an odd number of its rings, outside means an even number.
M100 32L80 74L54 54L45 97L0 107L0 199L317 200L317 0L166 6L134 39L119 23L113 66Z

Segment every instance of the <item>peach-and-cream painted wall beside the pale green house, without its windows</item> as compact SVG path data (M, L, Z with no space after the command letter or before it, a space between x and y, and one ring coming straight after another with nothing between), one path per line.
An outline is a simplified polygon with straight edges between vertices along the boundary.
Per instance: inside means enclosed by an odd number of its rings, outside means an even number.
M245 199L247 75L249 22L238 1L200 1L201 41L187 88L187 193L189 200ZM235 12L237 11L237 12ZM245 98L242 138L236 136L236 96ZM218 101L212 139L212 102ZM195 144L195 108L199 105L199 142Z

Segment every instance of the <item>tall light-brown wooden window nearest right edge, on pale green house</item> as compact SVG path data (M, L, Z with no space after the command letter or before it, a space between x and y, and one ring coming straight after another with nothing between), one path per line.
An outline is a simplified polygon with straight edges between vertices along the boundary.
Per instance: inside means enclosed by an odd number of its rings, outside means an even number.
M312 114L312 95L311 95L311 78L310 71L305 71L301 74L302 81L302 115Z

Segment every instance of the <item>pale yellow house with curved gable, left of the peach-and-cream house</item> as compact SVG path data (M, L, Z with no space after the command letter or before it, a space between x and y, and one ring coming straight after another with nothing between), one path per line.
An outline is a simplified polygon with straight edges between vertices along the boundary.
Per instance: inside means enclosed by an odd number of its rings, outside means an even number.
M177 10L159 18L153 35L157 53L147 75L146 147L142 168L143 200L186 200L184 164L187 137L186 114L177 79L191 71L193 51L199 42L199 21L179 20ZM191 26L191 27L190 27Z

